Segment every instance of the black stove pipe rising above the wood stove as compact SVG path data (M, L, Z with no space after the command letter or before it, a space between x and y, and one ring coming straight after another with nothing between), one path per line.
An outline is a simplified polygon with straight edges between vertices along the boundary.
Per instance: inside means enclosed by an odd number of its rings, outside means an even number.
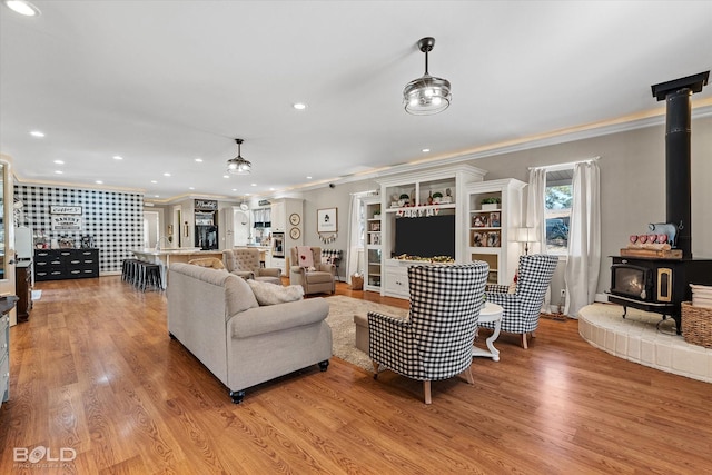
M708 83L710 71L651 86L653 97L666 102L665 217L678 226L676 247L692 258L691 96Z

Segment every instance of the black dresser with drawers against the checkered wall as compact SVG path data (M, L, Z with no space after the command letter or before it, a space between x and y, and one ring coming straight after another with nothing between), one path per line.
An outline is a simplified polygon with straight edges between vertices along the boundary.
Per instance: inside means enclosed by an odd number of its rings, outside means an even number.
M34 249L34 280L99 277L99 249Z

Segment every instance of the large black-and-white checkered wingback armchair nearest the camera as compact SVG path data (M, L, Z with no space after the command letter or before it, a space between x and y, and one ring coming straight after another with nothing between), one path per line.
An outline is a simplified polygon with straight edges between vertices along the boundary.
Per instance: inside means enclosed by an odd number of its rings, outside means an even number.
M473 384L469 366L479 309L490 266L408 267L408 318L368 313L368 356L374 378L379 366L423 382L425 404L431 404L431 382L464 373Z

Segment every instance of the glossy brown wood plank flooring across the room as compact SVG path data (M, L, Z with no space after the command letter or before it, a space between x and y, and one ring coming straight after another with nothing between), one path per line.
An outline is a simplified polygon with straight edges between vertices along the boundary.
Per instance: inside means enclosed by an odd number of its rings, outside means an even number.
M543 319L528 350L497 340L475 385L422 384L337 358L227 389L166 329L166 298L117 277L38 283L10 330L2 474L702 474L712 471L712 385L615 358L574 320ZM338 294L390 305L373 293ZM327 297L328 298L328 297ZM48 447L71 461L16 462Z

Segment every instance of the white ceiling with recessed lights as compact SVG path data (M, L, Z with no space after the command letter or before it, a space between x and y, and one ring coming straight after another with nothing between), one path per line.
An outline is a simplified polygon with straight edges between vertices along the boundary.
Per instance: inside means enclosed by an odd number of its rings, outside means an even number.
M710 1L32 3L40 17L0 7L0 151L16 176L158 200L279 192L635 117L664 107L651 85L712 67ZM453 105L414 117L402 91L426 36ZM712 86L693 100L712 103ZM235 138L254 171L224 178Z

